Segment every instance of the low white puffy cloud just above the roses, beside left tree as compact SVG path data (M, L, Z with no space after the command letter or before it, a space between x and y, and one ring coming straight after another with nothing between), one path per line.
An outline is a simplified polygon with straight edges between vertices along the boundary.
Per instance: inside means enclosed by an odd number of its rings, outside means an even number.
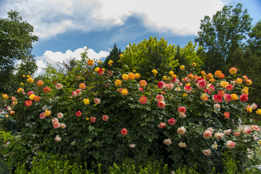
M81 56L80 53L84 52L83 48L78 48L75 51L67 50L65 53L58 52L52 52L52 51L46 51L43 56L36 57L36 65L38 66L38 70L35 73L34 76L38 76L40 74L45 73L44 68L47 67L47 62L51 64L52 67L58 68L56 65L56 62L61 62L68 58L76 58L77 60L80 60ZM108 51L100 51L99 53L96 53L94 50L90 49L88 50L88 58L95 60L100 60L101 58L106 58L109 55Z

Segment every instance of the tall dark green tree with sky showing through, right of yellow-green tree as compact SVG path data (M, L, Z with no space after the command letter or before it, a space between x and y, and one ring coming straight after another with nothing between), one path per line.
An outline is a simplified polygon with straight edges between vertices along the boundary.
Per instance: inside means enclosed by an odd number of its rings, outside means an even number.
M195 42L207 50L205 69L211 72L224 70L226 63L230 61L233 52L244 46L247 32L251 29L252 18L247 10L242 10L242 4L238 3L236 8L224 6L217 11L213 18L205 16L201 20L198 37Z

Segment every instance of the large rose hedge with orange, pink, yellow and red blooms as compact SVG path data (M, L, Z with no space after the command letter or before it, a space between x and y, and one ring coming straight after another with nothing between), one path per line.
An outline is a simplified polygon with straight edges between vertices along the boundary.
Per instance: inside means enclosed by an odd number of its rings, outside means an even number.
M46 152L105 165L155 154L175 170L196 165L206 173L226 152L244 171L261 145L258 126L238 130L246 112L261 115L247 103L245 85L252 81L236 68L229 76L180 69L182 77L171 71L158 81L156 70L142 79L135 70L106 71L101 62L82 58L68 76L48 67L43 79L24 76L17 95L2 97L9 117L36 133L34 143Z

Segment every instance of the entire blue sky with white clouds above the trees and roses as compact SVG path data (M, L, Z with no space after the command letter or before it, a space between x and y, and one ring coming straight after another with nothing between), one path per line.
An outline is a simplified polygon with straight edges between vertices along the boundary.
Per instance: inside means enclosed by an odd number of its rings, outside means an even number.
M47 62L56 67L66 58L80 59L86 47L97 60L104 60L114 43L124 51L150 36L184 47L194 43L200 19L237 3L248 10L252 25L261 19L261 0L0 0L0 18L12 9L34 27L37 76Z

